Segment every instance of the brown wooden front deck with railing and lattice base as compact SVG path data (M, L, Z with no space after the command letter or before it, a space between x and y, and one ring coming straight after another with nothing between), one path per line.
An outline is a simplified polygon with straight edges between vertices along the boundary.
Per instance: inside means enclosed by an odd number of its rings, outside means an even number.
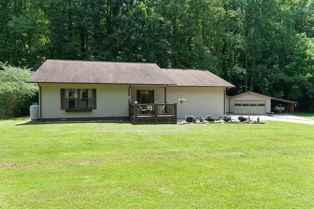
M131 104L133 124L177 123L177 103Z

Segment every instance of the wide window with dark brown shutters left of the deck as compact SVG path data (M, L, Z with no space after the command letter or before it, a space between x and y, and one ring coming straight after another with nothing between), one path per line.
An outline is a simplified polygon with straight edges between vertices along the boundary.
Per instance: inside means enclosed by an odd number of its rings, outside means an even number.
M96 89L61 89L61 109L66 111L96 109Z

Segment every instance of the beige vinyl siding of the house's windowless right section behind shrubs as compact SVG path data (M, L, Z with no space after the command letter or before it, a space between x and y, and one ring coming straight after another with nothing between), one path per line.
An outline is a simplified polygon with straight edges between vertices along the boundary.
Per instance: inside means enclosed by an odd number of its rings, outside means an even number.
M225 88L221 87L167 87L167 102L173 103L181 94L186 99L178 102L178 118L185 116L223 116L225 113Z

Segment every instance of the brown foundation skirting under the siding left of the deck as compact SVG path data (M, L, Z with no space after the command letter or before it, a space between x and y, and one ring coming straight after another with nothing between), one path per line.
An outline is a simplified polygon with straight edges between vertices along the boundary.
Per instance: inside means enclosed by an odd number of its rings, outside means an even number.
M41 118L41 122L60 122L60 121L130 121L130 117L71 117L71 118Z

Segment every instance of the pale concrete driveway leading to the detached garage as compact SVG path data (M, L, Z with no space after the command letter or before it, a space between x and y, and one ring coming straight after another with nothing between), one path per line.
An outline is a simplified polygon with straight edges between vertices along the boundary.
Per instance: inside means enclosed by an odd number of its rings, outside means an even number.
M231 116L232 120L238 120L237 119L238 116L245 116L245 115L230 114L229 116ZM245 117L248 117L248 116L245 116ZM250 115L251 120L253 118L253 120L256 121L257 117L260 117L261 122L263 122L264 120L276 120L276 121L285 121L285 122L292 122L292 123L304 123L304 124L314 125L314 120L310 120L310 119L298 117L298 116L292 116L289 114L274 114L274 115L265 114L265 115L254 115L254 116Z

